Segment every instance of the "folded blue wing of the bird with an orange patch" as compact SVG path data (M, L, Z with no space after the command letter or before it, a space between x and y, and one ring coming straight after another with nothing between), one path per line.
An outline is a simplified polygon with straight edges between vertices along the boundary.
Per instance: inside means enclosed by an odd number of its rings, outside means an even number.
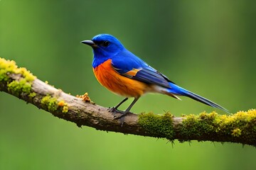
M112 58L112 66L119 74L129 79L170 88L169 82L171 81L164 74L127 50Z

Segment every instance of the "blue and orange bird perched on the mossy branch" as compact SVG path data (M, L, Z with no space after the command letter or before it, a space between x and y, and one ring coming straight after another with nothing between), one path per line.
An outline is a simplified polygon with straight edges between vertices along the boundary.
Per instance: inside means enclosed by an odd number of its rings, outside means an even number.
M92 40L83 40L81 43L92 47L92 70L97 81L114 94L125 97L113 107L113 111L122 113L116 118L127 115L138 99L147 93L166 94L179 100L181 98L178 96L186 96L229 113L217 103L176 85L164 74L127 50L113 35L99 34ZM125 111L119 111L119 106L130 97L134 98L132 103Z

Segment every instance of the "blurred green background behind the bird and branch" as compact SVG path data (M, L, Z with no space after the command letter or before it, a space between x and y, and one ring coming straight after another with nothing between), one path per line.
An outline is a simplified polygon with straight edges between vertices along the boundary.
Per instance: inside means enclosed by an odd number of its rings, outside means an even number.
M0 57L101 106L115 96L92 73L80 44L110 33L172 81L232 113L255 108L255 1L0 0ZM122 109L132 101L130 99ZM146 95L132 108L181 114L215 111L189 98ZM218 111L218 113L223 113ZM0 169L256 169L256 149L78 128L0 93Z

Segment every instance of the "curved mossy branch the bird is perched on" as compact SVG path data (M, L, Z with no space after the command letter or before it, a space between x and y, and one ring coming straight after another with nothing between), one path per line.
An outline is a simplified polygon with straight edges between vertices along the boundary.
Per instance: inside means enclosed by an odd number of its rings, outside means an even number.
M198 140L212 142L237 142L256 146L256 110L240 111L233 115L201 113L174 117L170 113L129 114L121 126L109 108L98 106L85 94L75 97L37 79L25 68L18 68L14 61L0 58L0 91L21 98L63 118L97 130L124 134L164 137L180 142Z

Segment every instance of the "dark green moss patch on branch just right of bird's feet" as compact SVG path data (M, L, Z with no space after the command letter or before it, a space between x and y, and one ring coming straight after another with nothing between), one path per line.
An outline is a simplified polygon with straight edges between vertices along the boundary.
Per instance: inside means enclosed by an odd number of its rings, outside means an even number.
M164 115L142 113L139 115L139 125L154 137L166 137L168 140L174 140L175 133L172 118L171 113L165 113Z

